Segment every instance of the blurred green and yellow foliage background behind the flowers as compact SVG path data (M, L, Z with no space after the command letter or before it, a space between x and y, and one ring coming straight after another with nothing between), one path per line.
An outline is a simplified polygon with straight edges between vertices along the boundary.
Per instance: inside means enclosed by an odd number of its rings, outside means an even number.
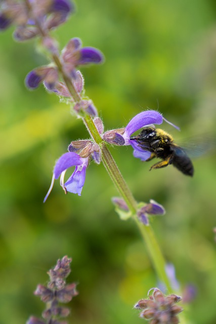
M104 53L102 66L81 71L106 130L149 107L181 127L163 125L177 142L215 138L215 1L79 0L76 7L53 34L61 47L78 36ZM69 281L79 282L69 322L141 323L133 305L157 278L136 225L114 212L117 192L103 165L90 165L81 197L65 195L56 181L42 204L55 160L88 134L55 95L25 88L25 75L47 61L35 41L15 43L12 31L0 38L0 323L40 316L44 304L32 292L64 255L73 258ZM132 148L111 151L136 199L166 209L152 225L182 287L197 289L187 323L215 324L214 151L194 159L193 179L172 166L149 172L151 163Z

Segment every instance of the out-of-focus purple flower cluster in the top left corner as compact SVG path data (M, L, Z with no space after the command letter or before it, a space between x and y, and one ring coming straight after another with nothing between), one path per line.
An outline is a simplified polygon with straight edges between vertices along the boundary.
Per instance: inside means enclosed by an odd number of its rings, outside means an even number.
M64 23L74 11L69 0L3 0L0 8L0 30L16 25L14 37L26 41Z

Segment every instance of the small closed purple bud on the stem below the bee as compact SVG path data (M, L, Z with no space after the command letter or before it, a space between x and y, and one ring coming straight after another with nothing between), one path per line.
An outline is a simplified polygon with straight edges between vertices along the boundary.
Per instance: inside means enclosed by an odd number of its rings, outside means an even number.
M149 219L148 219L149 215L164 215L164 214L165 214L164 208L152 199L150 199L149 204L146 204L145 206L141 207L137 212L137 216L139 220L144 225L149 224Z

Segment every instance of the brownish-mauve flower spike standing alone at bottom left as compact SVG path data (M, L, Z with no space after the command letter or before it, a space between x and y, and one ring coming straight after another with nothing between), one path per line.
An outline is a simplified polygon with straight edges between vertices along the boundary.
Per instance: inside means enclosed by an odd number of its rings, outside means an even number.
M26 324L45 324L55 323L61 324L60 317L69 315L70 310L61 306L59 303L68 303L74 296L77 296L76 284L66 285L66 277L70 273L70 263L72 259L67 256L59 259L56 266L48 271L50 281L47 287L38 285L34 295L40 296L42 302L46 303L46 310L42 313L45 320L41 320L35 316L31 316ZM66 324L67 322L64 321Z

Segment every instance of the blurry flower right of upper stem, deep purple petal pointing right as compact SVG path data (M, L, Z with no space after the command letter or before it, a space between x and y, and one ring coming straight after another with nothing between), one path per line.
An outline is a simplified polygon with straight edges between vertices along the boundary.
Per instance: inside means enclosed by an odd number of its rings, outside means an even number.
M75 78L78 65L98 64L103 62L103 54L94 47L81 47L81 39L70 39L62 50L61 61L68 76Z

